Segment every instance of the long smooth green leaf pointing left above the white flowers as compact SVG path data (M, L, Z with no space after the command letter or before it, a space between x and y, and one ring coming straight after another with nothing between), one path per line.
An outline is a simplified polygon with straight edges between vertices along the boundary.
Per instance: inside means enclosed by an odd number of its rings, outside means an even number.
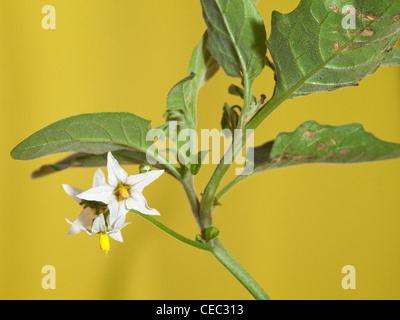
M130 113L81 114L57 121L18 144L11 156L31 160L61 152L103 154L128 149L146 153L151 123Z

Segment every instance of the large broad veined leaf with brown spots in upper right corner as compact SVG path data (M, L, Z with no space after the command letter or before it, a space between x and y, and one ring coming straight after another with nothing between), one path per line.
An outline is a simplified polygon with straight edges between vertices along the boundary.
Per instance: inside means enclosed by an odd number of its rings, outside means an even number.
M355 15L344 11L346 5ZM274 98L357 85L397 42L399 13L400 1L393 0L302 0L292 13L274 11L268 40L276 67ZM356 29L345 29L351 17Z

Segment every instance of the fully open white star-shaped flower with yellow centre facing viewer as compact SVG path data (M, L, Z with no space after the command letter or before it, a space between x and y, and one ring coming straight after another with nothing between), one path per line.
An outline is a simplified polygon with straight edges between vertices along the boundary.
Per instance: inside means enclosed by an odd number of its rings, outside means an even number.
M160 215L156 209L148 206L143 196L143 189L156 180L164 170L128 176L121 168L111 152L107 155L108 184L103 183L77 195L87 201L99 201L107 204L110 210L110 222L113 225L129 210L137 210L143 214Z

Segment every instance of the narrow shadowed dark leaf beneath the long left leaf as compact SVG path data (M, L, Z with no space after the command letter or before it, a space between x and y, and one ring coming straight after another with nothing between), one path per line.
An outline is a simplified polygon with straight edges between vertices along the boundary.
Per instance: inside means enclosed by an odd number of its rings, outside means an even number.
M113 156L122 164L142 164L147 161L143 152L130 150L117 150L113 152ZM76 153L54 164L46 164L32 173L32 178L43 177L58 171L69 168L92 168L103 167L107 165L107 153L101 155ZM165 169L162 165L156 167Z

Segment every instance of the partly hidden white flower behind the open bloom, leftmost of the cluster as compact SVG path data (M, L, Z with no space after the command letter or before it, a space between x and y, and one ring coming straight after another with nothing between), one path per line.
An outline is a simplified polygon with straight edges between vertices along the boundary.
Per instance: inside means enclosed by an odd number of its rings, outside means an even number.
M97 169L94 177L92 187L97 187L106 183L106 178L104 176L103 171L101 169ZM93 202L89 203L88 201L84 201L77 197L78 194L82 193L83 190L70 186L68 184L62 185L65 192L71 196L78 204L83 208L82 212L75 219L74 222L70 222L68 219L68 223L72 224L71 228L68 230L68 235L74 235L82 230L86 230L92 225L94 219L98 217L99 214L105 213L107 211L107 205L101 202Z

